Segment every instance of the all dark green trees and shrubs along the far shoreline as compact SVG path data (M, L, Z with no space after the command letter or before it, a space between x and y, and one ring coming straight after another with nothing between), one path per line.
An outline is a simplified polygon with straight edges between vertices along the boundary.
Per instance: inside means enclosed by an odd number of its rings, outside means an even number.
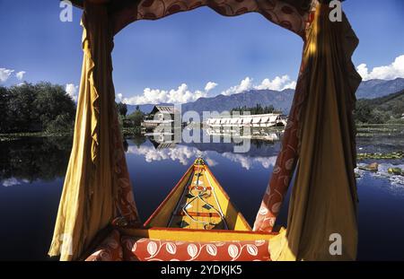
M124 136L140 135L146 114L136 106L127 115L127 105L116 103ZM25 136L71 135L75 123L75 101L61 85L22 83L0 86L0 141ZM231 111L275 112L273 106L234 108ZM404 91L372 100L360 99L354 112L356 137L400 135L404 132Z

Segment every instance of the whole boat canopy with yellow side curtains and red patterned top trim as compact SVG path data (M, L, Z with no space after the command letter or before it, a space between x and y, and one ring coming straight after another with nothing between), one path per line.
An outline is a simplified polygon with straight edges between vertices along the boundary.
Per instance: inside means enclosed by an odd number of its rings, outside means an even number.
M356 258L352 110L361 77L351 61L358 39L345 14L341 21L331 22L329 0L72 2L83 8L83 67L72 152L50 256L60 255L61 260L79 258L117 216L127 226L140 223L114 101L114 36L131 22L157 20L206 6L225 16L260 13L303 39L303 61L281 155L277 157L253 231L273 230L294 176L289 222L286 230L269 240L271 259ZM243 124L251 120L244 118ZM343 254L338 257L329 253L329 235L335 232L343 236Z

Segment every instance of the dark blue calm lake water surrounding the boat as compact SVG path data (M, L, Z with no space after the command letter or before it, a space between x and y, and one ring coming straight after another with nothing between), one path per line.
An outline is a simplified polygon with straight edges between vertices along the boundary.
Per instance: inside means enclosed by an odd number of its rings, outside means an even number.
M359 138L357 148L360 153L403 151L402 139L402 135ZM144 221L189 164L203 156L234 205L250 224L254 222L279 142L252 141L248 153L233 153L233 144L224 143L168 145L156 144L145 137L126 141L136 205ZM0 259L48 259L70 148L68 137L0 142ZM387 174L387 169L391 166L404 169L404 161L378 162L378 172L360 171L361 178L357 179L358 258L403 260L404 178ZM287 203L277 223L285 225L286 216Z

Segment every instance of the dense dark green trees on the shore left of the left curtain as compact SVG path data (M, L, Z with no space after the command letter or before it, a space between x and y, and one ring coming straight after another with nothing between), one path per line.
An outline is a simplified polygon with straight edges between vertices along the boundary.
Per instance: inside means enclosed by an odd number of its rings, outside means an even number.
M22 83L0 87L0 133L73 130L75 101L61 85Z

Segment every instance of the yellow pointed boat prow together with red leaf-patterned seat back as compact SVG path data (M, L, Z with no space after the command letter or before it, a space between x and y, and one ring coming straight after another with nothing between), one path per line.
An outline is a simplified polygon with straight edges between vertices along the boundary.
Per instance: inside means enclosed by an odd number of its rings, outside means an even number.
M268 240L276 235L251 231L202 158L189 167L143 226L118 220L113 228L87 259L115 255L107 259L269 260ZM122 258L111 251L116 245L109 243L117 242Z

